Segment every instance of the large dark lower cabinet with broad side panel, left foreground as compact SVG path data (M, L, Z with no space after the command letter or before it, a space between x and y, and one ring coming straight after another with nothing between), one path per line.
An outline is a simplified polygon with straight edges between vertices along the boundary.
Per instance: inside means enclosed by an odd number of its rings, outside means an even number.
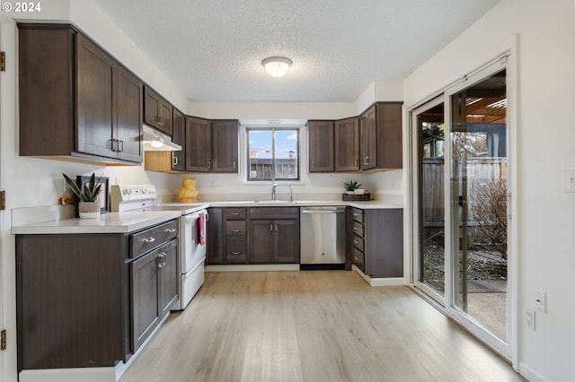
M178 297L177 227L141 256L137 233L16 235L18 370L127 361Z

